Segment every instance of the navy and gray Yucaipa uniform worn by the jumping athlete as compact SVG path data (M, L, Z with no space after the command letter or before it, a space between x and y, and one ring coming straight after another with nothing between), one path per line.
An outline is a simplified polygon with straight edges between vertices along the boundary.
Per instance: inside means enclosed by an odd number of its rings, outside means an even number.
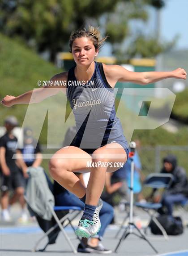
M96 148L115 141L128 154L128 143L115 115L114 90L107 82L103 64L95 62L94 74L86 84L79 84L74 69L75 66L68 71L66 92L77 128L72 145L92 153Z

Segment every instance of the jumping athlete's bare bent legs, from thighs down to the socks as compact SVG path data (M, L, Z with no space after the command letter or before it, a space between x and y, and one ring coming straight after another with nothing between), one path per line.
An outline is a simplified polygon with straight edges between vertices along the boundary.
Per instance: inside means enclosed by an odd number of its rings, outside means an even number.
M115 158L115 155L120 159ZM69 158L68 158L69 157ZM97 158L96 158L97 157ZM87 162L126 162L127 155L120 144L111 143L94 151L92 157L80 148L69 146L57 151L50 160L50 174L65 189L82 198L86 193L85 186L73 173L76 171L91 171L87 187L86 203L97 205L103 192L106 171L113 172L119 167L87 167Z

